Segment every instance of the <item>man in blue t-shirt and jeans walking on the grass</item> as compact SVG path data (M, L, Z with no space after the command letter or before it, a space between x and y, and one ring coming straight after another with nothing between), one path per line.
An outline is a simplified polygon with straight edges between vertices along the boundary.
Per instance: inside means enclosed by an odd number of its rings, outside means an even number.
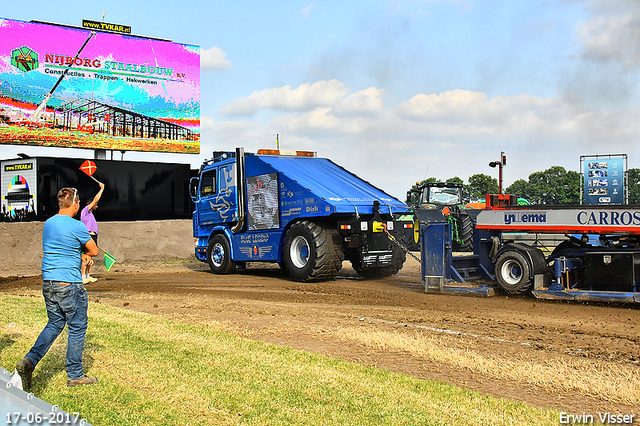
M67 340L67 386L96 383L82 369L82 351L87 332L87 290L82 284L80 266L93 263L98 247L89 236L87 227L73 217L80 209L80 197L75 188L62 188L58 192L57 215L49 218L42 230L42 295L47 306L49 322L25 357L18 361L16 370L22 379L22 388L31 389L33 370L64 329L69 329Z

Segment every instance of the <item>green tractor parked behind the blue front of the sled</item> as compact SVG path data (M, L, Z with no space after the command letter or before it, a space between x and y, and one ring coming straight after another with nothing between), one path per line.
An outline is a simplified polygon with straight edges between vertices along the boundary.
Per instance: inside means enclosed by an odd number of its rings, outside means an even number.
M473 251L473 220L465 208L462 184L451 182L428 182L407 192L407 204L413 210L438 209L451 225L453 251ZM408 219L408 218L407 218ZM419 250L419 234L414 224L413 241L405 237L410 250ZM412 245L411 243L415 245Z

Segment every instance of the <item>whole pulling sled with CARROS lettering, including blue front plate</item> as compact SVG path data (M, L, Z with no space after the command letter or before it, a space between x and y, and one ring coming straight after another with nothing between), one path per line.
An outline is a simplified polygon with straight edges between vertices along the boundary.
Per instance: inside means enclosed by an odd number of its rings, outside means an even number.
M514 196L487 195L487 208L475 215L472 256L454 255L442 220L420 221L427 291L445 289L452 281L485 279L509 294L531 291L541 299L640 303L640 206L514 201ZM438 228L445 238L442 249L434 250L427 241ZM517 233L564 234L565 239L545 252L535 242L515 241ZM593 235L597 241L589 238Z

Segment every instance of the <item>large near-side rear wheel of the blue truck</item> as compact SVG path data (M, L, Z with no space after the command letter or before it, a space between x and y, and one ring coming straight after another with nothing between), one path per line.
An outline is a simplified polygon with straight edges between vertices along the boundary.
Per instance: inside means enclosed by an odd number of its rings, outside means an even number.
M283 259L296 281L333 279L344 260L340 234L307 220L294 223L284 239Z

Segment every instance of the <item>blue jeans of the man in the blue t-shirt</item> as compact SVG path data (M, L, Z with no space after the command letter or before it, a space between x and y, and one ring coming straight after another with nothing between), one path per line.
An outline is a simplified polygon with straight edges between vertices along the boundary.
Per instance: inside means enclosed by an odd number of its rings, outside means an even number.
M87 290L82 283L43 281L42 295L47 305L49 322L26 357L35 368L66 324L69 328L67 377L71 380L80 379L84 377L82 351L87 333Z

